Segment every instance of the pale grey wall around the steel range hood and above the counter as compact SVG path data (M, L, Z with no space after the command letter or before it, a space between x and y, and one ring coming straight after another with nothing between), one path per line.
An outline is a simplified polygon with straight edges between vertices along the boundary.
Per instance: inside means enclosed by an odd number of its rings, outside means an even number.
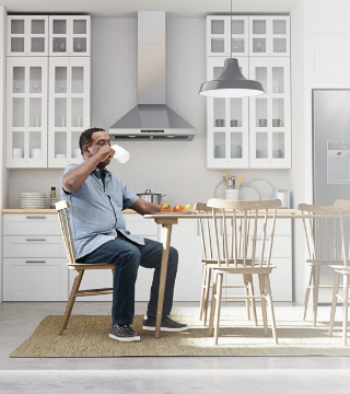
M190 142L120 142L130 152L126 164L108 170L135 193L165 194L163 201L185 205L213 197L224 170L206 170L206 100L198 95L206 80L205 20L166 20L166 103L197 129ZM121 55L120 55L121 54ZM137 19L92 19L92 123L106 130L137 104ZM47 207L57 170L12 170L10 207L20 207L21 192L45 192ZM288 188L283 170L228 170L244 175L242 186L265 179Z

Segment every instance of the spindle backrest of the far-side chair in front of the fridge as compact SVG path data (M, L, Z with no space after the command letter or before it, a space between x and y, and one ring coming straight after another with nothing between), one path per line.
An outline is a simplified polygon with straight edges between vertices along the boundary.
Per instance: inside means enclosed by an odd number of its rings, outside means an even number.
M345 218L342 208L340 206L300 204L298 209L302 215L317 215L323 217L315 219L303 218L308 259L342 259L345 266L347 266ZM339 229L339 232L337 232L337 229ZM340 234L341 240L339 245L341 251L340 258L337 234ZM318 247L316 244L318 244Z

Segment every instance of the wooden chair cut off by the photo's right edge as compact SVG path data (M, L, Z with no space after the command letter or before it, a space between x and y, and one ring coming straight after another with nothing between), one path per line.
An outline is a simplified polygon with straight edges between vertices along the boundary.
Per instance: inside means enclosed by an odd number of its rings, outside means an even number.
M342 209L340 216L345 212L350 212L350 200L339 199L335 202L335 207ZM332 335L337 301L342 302L342 345L347 346L347 329L348 329L348 304L349 304L349 281L350 281L350 241L349 241L349 255L347 258L347 240L346 240L346 227L345 219L340 219L341 225L341 253L342 265L330 266L335 270L335 285L332 290L331 310L330 310L330 323L329 323L329 336ZM340 276L342 275L342 297L338 294Z

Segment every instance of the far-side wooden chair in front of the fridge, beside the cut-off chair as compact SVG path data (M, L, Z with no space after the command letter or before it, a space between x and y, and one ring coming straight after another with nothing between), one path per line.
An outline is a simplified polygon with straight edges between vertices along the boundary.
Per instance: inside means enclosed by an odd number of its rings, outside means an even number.
M332 286L319 285L320 267L341 265L343 263L342 252L341 254L339 253L340 251L337 245L337 229L339 231L338 234L342 234L342 224L340 220L341 208L335 206L300 204L298 209L302 215L317 215L324 217L315 219L303 218L308 254L308 258L306 259L306 264L308 265L308 279L304 299L303 321L306 318L310 291L313 289L313 325L315 327L319 289L332 288Z

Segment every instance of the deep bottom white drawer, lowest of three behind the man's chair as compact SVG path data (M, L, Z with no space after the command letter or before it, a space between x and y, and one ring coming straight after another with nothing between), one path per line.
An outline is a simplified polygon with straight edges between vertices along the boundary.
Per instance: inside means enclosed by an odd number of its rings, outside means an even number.
M4 258L3 301L67 301L63 258Z

